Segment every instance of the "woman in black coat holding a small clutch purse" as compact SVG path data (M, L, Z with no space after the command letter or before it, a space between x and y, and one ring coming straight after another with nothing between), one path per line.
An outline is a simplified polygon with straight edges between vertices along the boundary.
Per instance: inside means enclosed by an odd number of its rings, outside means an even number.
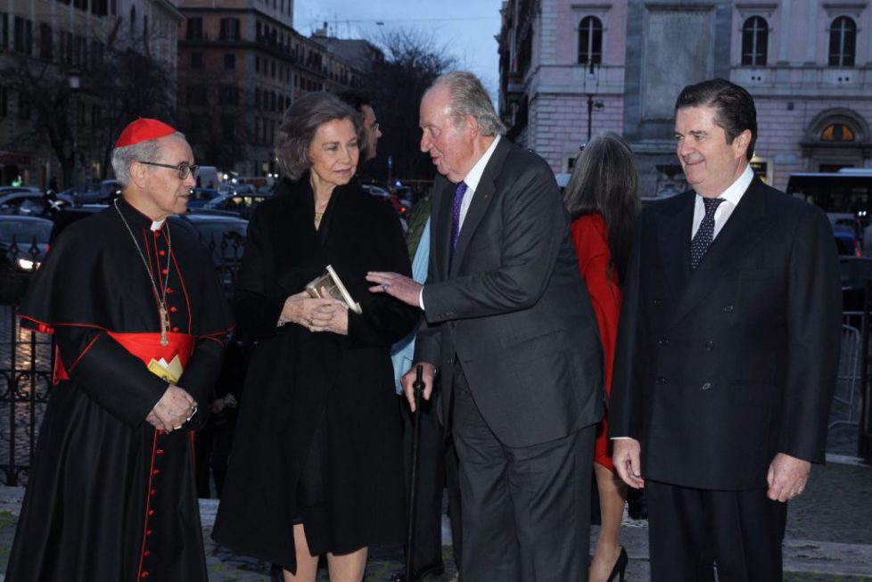
M257 347L213 537L281 564L285 580L359 581L367 547L405 532L391 344L415 309L367 291L367 271L410 271L399 219L355 177L363 126L332 94L284 113L276 150L286 179L251 217L233 300ZM360 313L313 299L331 265Z

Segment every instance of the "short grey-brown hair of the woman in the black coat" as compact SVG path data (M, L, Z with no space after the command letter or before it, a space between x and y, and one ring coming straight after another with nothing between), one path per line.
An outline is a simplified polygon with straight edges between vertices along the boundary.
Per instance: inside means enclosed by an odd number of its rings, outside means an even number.
M366 143L363 116L339 97L326 91L304 94L284 111L276 132L276 157L285 176L298 180L312 167L308 151L318 127L334 119L350 119L358 144Z

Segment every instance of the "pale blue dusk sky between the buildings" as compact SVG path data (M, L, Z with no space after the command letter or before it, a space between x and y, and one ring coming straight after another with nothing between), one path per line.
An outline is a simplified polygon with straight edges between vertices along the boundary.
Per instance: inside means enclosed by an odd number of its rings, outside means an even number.
M417 31L444 46L461 69L478 75L496 100L499 60L494 37L501 5L501 0L296 0L293 25L308 36L327 22L330 36L340 38L376 39L380 30Z

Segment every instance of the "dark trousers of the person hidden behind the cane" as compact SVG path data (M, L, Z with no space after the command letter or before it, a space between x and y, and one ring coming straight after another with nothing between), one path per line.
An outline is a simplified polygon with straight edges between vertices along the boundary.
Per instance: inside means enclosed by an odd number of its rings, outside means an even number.
M439 422L436 398L421 401L420 441L418 443L418 478L415 491L415 547L412 569L440 562L442 559L442 486L448 488L448 516L454 559L461 559L460 490L457 484L457 454L454 444L445 438ZM412 437L415 414L405 396L399 397L403 419L403 458L406 463L406 495L411 482Z

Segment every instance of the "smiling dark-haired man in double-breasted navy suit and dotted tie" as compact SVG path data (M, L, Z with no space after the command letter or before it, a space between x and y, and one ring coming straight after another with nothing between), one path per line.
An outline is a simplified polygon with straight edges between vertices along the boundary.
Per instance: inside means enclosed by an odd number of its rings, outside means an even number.
M676 102L695 192L639 218L609 409L646 488L654 582L781 579L786 501L824 460L841 337L833 233L749 166L757 114L722 79Z

